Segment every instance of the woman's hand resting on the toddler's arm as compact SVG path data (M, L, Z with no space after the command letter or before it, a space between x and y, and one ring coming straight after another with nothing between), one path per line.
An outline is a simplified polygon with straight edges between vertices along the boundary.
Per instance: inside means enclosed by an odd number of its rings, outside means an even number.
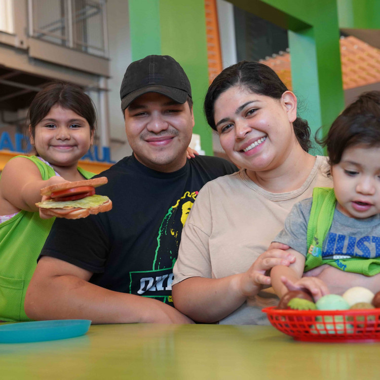
M270 285L271 277L265 272L276 265L287 267L295 261L295 256L286 252L288 245L282 243L271 243L268 250L261 253L249 270L240 275L240 292L246 297L252 297L258 293L262 285Z

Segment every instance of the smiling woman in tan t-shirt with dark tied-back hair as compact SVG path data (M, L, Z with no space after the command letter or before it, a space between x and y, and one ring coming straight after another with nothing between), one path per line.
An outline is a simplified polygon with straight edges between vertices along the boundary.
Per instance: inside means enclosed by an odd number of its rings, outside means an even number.
M294 203L315 186L331 186L326 158L308 153L310 129L297 118L295 95L261 63L224 69L207 92L205 112L243 169L200 191L182 231L174 305L199 322L267 324L261 308L277 299L261 289L270 285L265 272L294 260L282 250L287 246L271 242Z

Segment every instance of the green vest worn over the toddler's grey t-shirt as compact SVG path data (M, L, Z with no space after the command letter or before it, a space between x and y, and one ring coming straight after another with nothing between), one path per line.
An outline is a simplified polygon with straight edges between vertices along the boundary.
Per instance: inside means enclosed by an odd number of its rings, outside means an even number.
M335 205L336 198L333 188L314 188L308 223L308 252L304 271L307 272L323 264L328 264L345 272L360 273L365 276L377 275L380 273L380 260L376 258L322 259L322 245L331 227Z

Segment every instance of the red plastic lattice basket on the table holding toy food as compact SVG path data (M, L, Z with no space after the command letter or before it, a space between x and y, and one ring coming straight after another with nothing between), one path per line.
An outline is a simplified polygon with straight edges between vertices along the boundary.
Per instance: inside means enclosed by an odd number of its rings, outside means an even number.
M380 309L262 309L281 332L296 340L315 342L380 341Z

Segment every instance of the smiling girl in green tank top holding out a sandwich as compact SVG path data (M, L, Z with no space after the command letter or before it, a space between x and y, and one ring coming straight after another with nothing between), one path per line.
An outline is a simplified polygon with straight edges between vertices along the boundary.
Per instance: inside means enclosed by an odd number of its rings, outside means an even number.
M50 84L34 97L28 132L35 156L17 156L0 177L0 320L28 321L25 293L54 217L39 211L40 190L91 178L78 167L90 148L96 112L81 88Z

